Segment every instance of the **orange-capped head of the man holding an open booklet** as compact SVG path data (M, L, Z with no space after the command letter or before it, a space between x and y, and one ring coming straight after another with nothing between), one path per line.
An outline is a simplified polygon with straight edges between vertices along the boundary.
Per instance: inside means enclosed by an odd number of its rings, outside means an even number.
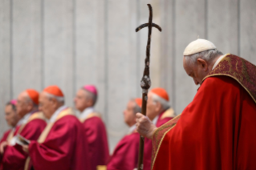
M47 119L65 103L63 92L57 86L46 87L39 96L39 110Z

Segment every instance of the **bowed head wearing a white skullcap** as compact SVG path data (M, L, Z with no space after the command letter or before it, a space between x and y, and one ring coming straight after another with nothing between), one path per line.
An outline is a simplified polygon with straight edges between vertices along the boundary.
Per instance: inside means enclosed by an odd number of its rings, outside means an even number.
M223 55L221 51L218 51L212 42L197 39L185 48L183 67L196 85L201 84L221 55Z

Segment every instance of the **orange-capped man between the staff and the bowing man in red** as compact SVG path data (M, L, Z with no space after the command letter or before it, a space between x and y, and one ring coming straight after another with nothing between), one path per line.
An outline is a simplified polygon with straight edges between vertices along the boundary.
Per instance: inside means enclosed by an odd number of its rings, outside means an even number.
M147 116L148 119L156 127L168 122L175 117L173 108L169 105L169 95L164 88L156 87L148 92L147 103ZM152 140L144 139L144 170L150 170L152 160Z

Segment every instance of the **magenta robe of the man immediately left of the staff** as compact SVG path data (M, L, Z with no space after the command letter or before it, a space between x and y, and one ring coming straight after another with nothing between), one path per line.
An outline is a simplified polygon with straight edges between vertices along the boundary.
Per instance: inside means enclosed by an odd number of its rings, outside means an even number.
M138 165L138 153L140 145L140 134L132 132L132 134L124 136L116 145L111 156L107 169L108 170L133 170Z

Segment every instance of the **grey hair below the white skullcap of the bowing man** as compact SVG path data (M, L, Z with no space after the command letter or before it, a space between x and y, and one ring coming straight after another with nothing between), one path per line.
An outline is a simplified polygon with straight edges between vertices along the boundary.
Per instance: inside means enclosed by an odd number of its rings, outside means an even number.
M212 63L213 59L216 59L218 56L223 55L221 51L217 49L202 51L193 55L185 55L185 60L190 63L197 63L197 59L204 59L207 63Z

